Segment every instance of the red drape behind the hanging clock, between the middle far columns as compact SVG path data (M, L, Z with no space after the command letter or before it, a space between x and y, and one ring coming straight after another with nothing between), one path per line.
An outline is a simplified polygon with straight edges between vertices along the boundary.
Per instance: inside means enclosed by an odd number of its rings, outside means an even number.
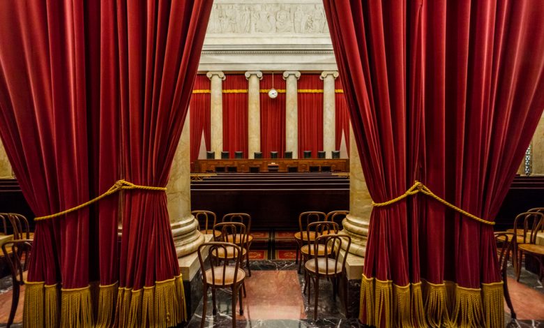
M285 80L280 73L263 74L260 83L261 94L261 151L264 158L270 156L271 151L278 151L282 158L285 152ZM278 97L272 99L268 91L274 87L278 90Z

